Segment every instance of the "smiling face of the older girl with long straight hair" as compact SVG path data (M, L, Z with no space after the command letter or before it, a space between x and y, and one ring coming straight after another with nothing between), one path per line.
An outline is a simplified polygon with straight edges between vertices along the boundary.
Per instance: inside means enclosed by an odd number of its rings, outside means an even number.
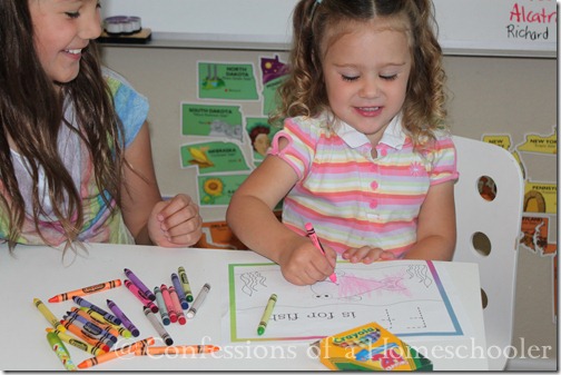
M66 83L80 71L81 51L101 34L97 0L28 0L35 47L47 76Z

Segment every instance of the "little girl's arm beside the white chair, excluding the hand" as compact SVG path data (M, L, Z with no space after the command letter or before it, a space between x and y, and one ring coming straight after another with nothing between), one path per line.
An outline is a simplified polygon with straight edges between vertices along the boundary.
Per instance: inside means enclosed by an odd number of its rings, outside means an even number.
M433 185L419 214L417 243L405 259L452 260L455 240L454 181Z

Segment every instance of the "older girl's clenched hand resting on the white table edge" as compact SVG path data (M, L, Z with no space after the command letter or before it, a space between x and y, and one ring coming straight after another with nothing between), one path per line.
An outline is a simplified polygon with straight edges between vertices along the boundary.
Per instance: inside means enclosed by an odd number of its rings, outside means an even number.
M148 219L148 234L154 244L164 247L187 247L200 238L203 219L193 199L178 194L154 206Z

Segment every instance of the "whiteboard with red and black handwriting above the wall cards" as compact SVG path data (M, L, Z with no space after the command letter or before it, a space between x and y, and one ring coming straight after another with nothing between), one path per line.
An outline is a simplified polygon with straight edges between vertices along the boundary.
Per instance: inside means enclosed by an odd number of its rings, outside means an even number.
M137 16L155 36L291 41L297 0L101 0L102 16ZM443 49L557 55L555 0L433 0ZM233 48L235 46L233 45Z

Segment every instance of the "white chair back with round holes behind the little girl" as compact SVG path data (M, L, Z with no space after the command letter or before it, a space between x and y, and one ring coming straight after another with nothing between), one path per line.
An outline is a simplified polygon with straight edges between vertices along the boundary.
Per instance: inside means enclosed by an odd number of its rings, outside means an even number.
M502 371L512 344L522 172L514 157L496 145L453 139L460 172L454 188L457 240L453 260L479 264L489 367Z

